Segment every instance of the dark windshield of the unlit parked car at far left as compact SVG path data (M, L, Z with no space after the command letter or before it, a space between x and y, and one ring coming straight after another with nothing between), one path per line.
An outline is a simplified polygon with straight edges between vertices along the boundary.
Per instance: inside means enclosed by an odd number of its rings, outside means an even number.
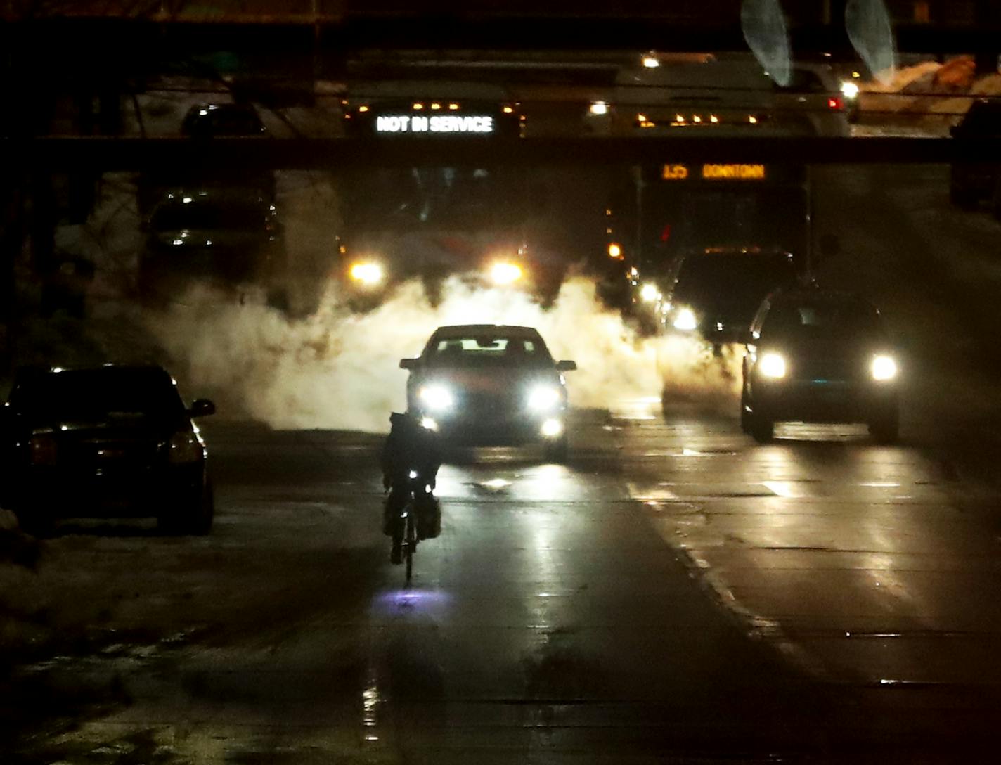
M30 375L15 386L10 404L29 417L58 421L108 418L174 420L184 406L159 370L66 369Z

